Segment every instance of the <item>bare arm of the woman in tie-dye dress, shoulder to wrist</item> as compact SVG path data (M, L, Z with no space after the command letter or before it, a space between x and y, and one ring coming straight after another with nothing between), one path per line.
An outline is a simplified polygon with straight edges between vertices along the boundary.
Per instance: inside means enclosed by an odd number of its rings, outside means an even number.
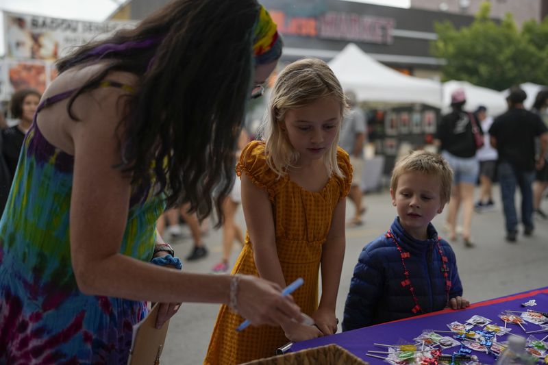
M192 301L193 284L170 282L176 274L173 270L119 253L131 193L130 177L112 168L120 158L114 121L121 118L122 93L99 88L82 95L77 103L88 104L85 114L75 105L82 118L72 128L75 162L70 231L77 283L86 294L176 303L181 292L188 292L184 301ZM204 299L227 302L227 290L215 294L206 288Z

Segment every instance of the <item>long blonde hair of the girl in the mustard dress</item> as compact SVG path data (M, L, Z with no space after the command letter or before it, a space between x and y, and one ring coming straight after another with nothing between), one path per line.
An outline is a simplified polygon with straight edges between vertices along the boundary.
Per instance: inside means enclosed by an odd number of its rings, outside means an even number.
M294 166L299 153L293 149L279 123L284 121L288 110L301 108L322 97L332 97L340 104L340 121L332 146L326 151L323 162L327 173L344 177L337 164L337 144L340 123L348 109L345 93L329 66L322 60L306 58L293 62L279 73L269 102L269 116L262 126L265 140L266 163L278 177L286 175L286 169Z

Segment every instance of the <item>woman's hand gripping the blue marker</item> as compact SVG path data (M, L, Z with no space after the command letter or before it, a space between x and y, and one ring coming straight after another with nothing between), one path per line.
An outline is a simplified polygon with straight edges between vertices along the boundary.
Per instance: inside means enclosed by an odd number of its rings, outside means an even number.
M238 284L238 314L251 325L284 326L293 321L302 322L301 310L288 295L282 297L282 289L271 281L242 275Z

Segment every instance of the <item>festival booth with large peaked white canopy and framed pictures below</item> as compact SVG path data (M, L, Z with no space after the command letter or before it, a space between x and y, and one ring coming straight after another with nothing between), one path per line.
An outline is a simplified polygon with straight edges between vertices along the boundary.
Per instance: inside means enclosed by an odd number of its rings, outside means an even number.
M350 43L329 62L345 91L368 112L369 141L362 190L376 190L390 175L397 155L432 142L440 116L438 81L403 75Z

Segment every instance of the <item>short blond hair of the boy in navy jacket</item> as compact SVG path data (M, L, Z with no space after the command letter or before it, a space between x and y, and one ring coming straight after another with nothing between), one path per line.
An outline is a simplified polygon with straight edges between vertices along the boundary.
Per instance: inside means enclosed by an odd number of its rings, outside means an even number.
M440 200L445 204L451 198L451 183L453 182L453 170L445 160L437 153L428 151L411 151L409 155L401 158L394 166L390 188L393 192L398 187L398 179L404 173L423 173L440 179Z

